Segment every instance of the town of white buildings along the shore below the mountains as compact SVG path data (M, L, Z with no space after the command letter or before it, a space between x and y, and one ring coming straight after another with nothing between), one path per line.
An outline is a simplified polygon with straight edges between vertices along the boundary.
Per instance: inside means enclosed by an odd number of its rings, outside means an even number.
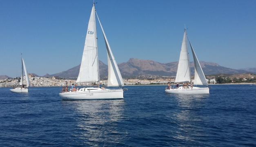
M254 74L240 74L240 75L217 75L206 76L209 84L240 84L240 83L256 83L256 76ZM174 84L174 76L156 76L156 75L137 75L133 78L124 78L125 85L156 85L156 84ZM64 86L76 83L76 80L64 79L59 77L37 77L29 74L30 86ZM107 85L107 80L100 80L102 85ZM193 82L193 80L192 80ZM13 87L20 84L20 77L7 78L0 80L0 87ZM23 84L26 84L24 82ZM78 86L95 85L96 83L78 83Z

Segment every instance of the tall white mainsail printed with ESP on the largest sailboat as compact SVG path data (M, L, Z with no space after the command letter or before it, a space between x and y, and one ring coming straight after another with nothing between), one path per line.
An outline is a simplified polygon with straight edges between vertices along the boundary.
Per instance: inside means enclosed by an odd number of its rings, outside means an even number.
M82 55L80 71L76 80L77 83L98 82L100 79L96 37L95 9L93 5L85 38L85 47Z

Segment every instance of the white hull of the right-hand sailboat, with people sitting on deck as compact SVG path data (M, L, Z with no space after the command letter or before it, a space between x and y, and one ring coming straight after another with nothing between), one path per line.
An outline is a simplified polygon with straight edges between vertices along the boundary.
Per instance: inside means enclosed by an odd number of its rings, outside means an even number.
M183 94L183 95L209 94L209 88L208 87L204 87L204 88L193 87L193 89L191 89L191 87L189 87L189 88L183 89L183 87L179 87L178 89L176 89L176 88L166 89L165 93L167 93L167 94Z

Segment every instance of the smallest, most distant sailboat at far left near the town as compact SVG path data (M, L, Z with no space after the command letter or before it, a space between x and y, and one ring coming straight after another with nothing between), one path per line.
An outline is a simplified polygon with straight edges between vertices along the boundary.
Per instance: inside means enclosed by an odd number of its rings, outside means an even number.
M26 76L26 81L27 81L27 85L26 87L24 87L24 84L23 84L23 72L25 73L25 76ZM20 77L20 86L18 87L13 87L13 89L10 89L11 92L14 92L14 93L28 93L29 91L29 76L28 76L28 73L27 73L27 68L26 68L26 65L25 65L25 62L23 60L23 58L21 57L21 77Z

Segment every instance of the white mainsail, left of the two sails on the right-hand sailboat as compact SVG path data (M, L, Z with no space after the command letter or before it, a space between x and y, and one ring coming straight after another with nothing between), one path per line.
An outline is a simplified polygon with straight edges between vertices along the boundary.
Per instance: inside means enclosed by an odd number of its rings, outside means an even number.
M189 67L189 56L187 52L187 34L184 31L183 41L180 50L180 59L178 63L178 70L176 73L175 82L190 82L190 67Z

